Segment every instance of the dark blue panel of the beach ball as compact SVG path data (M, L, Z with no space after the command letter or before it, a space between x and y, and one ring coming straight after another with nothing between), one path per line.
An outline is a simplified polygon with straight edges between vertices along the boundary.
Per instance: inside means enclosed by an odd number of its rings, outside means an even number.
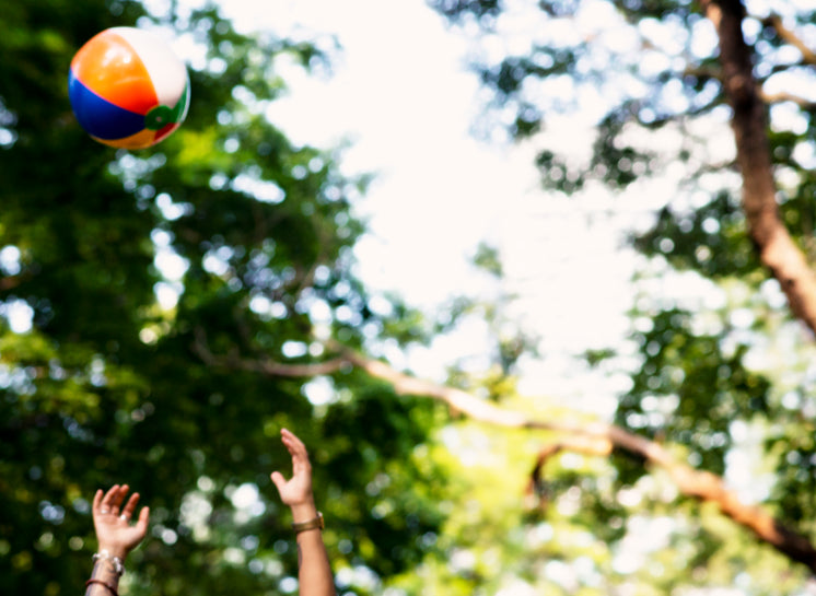
M144 116L112 104L68 74L68 97L80 126L97 139L124 139L144 128Z

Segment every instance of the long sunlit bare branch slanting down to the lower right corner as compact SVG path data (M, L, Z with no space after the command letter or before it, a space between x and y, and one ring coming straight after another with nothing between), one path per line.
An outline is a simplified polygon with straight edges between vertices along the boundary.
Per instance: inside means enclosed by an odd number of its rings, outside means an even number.
M525 412L501 408L456 387L408 375L385 362L372 360L337 343L331 343L330 349L338 353L333 360L316 364L289 365L269 360L247 361L236 355L215 357L209 351L202 337L197 338L194 344L196 353L211 365L254 371L270 376L311 376L333 373L343 366L355 366L372 377L390 384L397 395L435 399L471 420L508 429L556 433L559 435L558 449L591 455L608 455L614 448L629 452L643 458L649 465L667 471L686 496L716 504L724 515L753 531L757 538L816 573L816 547L806 537L796 534L761 507L743 503L719 476L695 470L677 460L663 445L654 441L602 421L532 418Z

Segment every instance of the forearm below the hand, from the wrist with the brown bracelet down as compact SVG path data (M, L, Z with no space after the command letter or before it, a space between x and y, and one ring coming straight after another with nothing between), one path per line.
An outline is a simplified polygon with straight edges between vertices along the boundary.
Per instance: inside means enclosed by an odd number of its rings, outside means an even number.
M314 502L292 507L295 524L317 517ZM323 531L312 528L298 533L298 582L300 596L335 596L335 581L331 574Z

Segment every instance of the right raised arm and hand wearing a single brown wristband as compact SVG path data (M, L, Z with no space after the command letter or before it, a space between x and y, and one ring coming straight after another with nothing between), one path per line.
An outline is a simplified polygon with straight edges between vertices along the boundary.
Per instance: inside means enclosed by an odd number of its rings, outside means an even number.
M273 471L272 482L278 488L281 501L291 507L292 522L312 522L317 518L317 507L312 493L312 465L308 452L292 432L283 429L280 437L292 456L292 478L287 480L282 474ZM326 546L323 544L322 529L314 527L300 530L296 540L300 596L335 596L335 581Z

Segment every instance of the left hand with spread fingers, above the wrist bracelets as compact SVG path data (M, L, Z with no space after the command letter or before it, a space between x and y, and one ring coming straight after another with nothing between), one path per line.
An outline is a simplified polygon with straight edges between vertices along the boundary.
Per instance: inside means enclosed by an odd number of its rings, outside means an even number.
M119 559L125 559L148 533L148 507L142 507L136 524L131 524L139 493L131 494L123 506L129 490L127 484L114 484L104 495L97 490L93 498L93 525L100 550L107 550Z

